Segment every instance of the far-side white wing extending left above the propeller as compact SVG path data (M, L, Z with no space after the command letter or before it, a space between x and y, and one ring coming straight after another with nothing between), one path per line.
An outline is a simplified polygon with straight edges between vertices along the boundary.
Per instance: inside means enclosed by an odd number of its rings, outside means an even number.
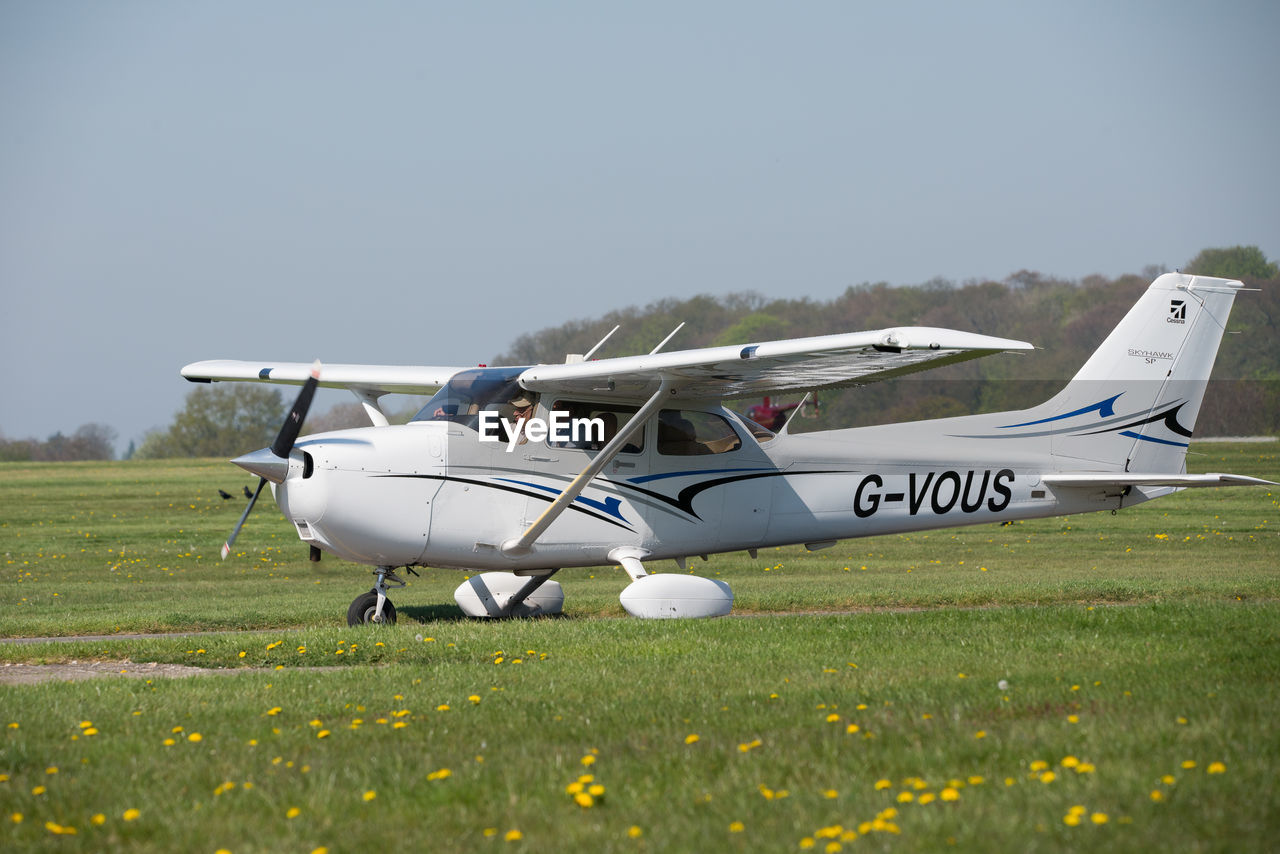
M371 394L431 394L465 367L412 365L324 365L320 385ZM192 383L251 380L302 385L311 375L310 362L253 362L215 359L182 369Z

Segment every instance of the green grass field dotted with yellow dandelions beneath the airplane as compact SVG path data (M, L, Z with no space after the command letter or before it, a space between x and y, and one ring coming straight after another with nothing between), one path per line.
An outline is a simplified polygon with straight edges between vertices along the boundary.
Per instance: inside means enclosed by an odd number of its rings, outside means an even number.
M1193 451L1280 479L1272 446ZM0 466L0 635L256 630L0 645L218 668L0 686L5 848L1235 851L1280 831L1280 490L713 557L694 568L733 586L726 620L613 618L626 577L596 568L557 576L564 618L462 621L462 575L429 570L399 625L348 629L371 576L308 563L270 504L218 560L243 503L216 489L241 483L218 461Z

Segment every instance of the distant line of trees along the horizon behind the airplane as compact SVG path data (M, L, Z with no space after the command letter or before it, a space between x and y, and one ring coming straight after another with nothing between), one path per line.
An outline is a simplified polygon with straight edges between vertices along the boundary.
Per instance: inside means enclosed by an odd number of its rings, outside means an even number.
M556 364L584 353L614 325L599 356L646 353L681 321L667 350L800 338L886 326L943 326L1029 341L1028 353L993 356L906 376L892 383L823 392L819 414L796 429L829 429L1018 410L1048 399L1164 269L1140 275L1066 280L1021 270L1002 282L919 286L864 283L833 300L771 300L759 293L667 298L603 318L571 320L517 338L490 365ZM1274 434L1280 428L1280 269L1253 246L1207 248L1183 271L1242 279L1257 293L1235 300L1196 434ZM745 410L754 398L730 401ZM164 430L143 439L138 458L228 457L270 444L287 403L280 392L252 383L198 385ZM403 421L412 411L403 412ZM307 433L367 425L357 403L308 419ZM104 443L102 438L106 435ZM0 439L5 460L111 458L114 433L84 425L45 443ZM96 442L96 444L95 444ZM104 451L105 447L105 451ZM76 448L74 451L72 448ZM93 448L93 451L88 451ZM100 453L102 456L67 456ZM23 456L27 455L27 456ZM61 456L58 456L61 455Z

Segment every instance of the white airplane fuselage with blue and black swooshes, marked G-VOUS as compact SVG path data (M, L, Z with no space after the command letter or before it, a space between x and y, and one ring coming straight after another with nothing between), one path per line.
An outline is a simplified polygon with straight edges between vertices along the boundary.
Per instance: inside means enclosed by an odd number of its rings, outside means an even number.
M562 405L609 408L554 403ZM1041 483L1061 469L1047 439L983 435L1016 414L772 434L718 402L672 407L652 417L525 554L502 544L539 517L600 443L481 440L465 419L340 430L297 442L275 497L303 540L344 560L534 570L609 563L618 547L646 560L820 548L1114 510L1169 492L1055 493Z

